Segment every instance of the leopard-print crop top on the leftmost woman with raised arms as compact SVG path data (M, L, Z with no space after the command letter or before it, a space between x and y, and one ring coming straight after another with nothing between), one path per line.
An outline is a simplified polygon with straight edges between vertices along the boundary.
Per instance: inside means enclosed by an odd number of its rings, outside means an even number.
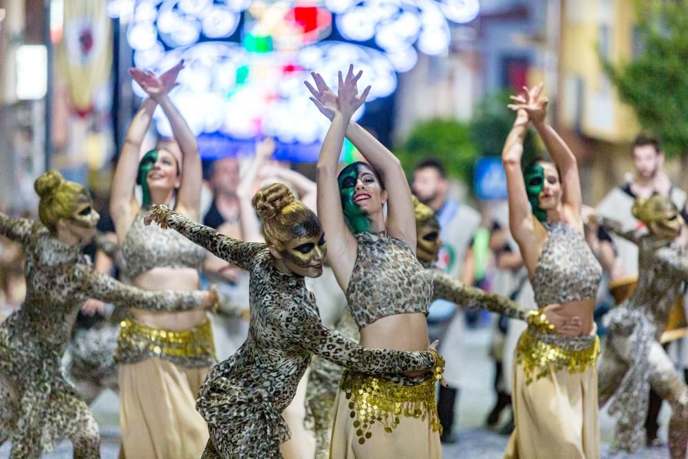
M206 251L175 231L164 231L158 225L146 226L141 209L125 236L116 261L122 277L129 283L153 268L201 269Z

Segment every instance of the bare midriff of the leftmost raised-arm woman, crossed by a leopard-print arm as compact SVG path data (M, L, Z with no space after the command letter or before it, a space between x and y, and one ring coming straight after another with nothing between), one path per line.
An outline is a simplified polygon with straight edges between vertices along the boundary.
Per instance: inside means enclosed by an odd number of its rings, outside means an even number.
M198 290L200 278L193 268L153 268L143 273L133 284L142 290ZM202 308L179 312L156 312L131 308L131 315L137 321L152 328L180 332L189 330L206 321L206 312Z

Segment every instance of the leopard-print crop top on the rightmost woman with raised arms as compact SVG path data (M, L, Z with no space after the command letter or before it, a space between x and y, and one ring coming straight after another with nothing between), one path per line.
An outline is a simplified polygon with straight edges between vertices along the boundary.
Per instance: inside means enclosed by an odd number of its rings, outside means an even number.
M566 222L546 223L548 236L531 280L540 308L596 297L602 267L583 235Z

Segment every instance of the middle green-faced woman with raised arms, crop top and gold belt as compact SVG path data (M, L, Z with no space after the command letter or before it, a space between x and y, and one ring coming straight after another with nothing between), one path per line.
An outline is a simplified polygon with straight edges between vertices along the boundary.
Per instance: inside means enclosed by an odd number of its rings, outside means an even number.
M399 161L352 121L370 90L362 72L339 73L338 94L322 76L306 83L330 120L317 164L318 216L339 286L361 330L361 345L402 351L428 347L426 315L432 281L416 259L411 189ZM345 136L367 162L337 175ZM387 219L383 207L387 206ZM443 367L443 365L441 365ZM433 373L371 374L345 369L336 401L332 458L441 458Z

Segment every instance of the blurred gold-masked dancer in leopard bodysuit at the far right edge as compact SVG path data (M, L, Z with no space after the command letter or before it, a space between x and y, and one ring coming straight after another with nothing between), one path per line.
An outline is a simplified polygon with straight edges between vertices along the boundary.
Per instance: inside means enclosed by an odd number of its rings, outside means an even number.
M649 386L669 402L669 451L684 459L688 449L688 386L660 344L676 297L688 282L688 251L674 239L685 222L671 200L654 195L636 199L633 216L647 226L644 233L623 232L620 225L601 224L638 246L638 286L621 306L604 317L608 345L600 365L600 407L612 396L616 415L614 449L635 451L645 442Z

